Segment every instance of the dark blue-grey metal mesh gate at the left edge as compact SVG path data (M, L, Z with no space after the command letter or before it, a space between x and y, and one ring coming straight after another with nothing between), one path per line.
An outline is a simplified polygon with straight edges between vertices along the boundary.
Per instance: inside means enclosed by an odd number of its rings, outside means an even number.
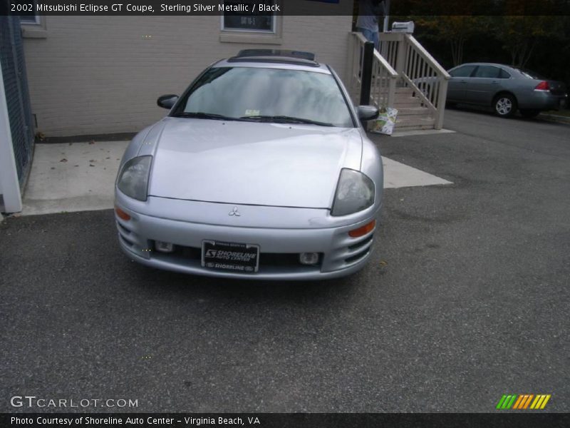
M14 158L18 179L23 188L31 165L33 122L18 16L0 16L0 63L4 76Z

